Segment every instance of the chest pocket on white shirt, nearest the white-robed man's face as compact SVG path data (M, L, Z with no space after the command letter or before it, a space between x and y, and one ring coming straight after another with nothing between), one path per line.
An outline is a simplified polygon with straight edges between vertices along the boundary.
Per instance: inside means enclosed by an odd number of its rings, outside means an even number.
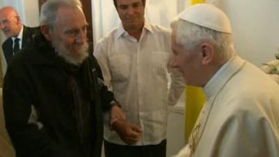
M169 63L169 52L151 52L153 73L165 75Z

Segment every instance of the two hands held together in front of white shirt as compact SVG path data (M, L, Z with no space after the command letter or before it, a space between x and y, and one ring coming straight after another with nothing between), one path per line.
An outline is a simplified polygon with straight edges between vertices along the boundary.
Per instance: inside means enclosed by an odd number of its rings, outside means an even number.
M142 135L142 128L126 121L126 114L121 107L114 105L110 111L110 124L112 129L128 145L135 144Z

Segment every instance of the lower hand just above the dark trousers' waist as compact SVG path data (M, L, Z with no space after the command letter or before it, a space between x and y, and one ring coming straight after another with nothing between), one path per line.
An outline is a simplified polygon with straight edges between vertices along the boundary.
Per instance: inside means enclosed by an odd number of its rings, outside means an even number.
M142 135L142 128L136 124L127 123L126 121L115 121L112 124L112 129L118 133L121 140L126 144L135 144Z

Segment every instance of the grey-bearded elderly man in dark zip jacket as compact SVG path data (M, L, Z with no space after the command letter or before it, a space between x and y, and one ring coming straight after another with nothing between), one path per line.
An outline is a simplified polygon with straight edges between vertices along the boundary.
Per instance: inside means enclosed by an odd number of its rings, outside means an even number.
M3 109L18 157L100 157L103 111L113 121L125 119L87 52L86 27L79 0L48 0L40 13L41 33L10 62Z

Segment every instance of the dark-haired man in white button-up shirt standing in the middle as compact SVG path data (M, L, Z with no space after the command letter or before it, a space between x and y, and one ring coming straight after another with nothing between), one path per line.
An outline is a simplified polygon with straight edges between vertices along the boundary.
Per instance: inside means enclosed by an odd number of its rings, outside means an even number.
M185 87L181 73L169 65L170 31L144 20L145 0L114 0L114 5L121 24L99 41L93 54L127 121L141 129L130 130L135 137L127 139L105 126L105 155L164 157L167 104L176 104Z

